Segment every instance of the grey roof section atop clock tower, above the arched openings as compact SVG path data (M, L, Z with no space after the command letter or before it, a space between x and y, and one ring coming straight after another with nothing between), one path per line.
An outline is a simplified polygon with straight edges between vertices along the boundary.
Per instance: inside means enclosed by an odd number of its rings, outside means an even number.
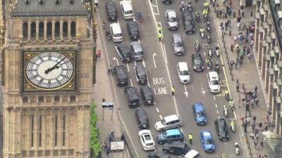
M28 0L27 0L28 1ZM81 0L29 0L26 4L25 0L20 0L11 13L13 17L34 17L34 16L78 16L90 15ZM59 1L59 4L56 4Z

